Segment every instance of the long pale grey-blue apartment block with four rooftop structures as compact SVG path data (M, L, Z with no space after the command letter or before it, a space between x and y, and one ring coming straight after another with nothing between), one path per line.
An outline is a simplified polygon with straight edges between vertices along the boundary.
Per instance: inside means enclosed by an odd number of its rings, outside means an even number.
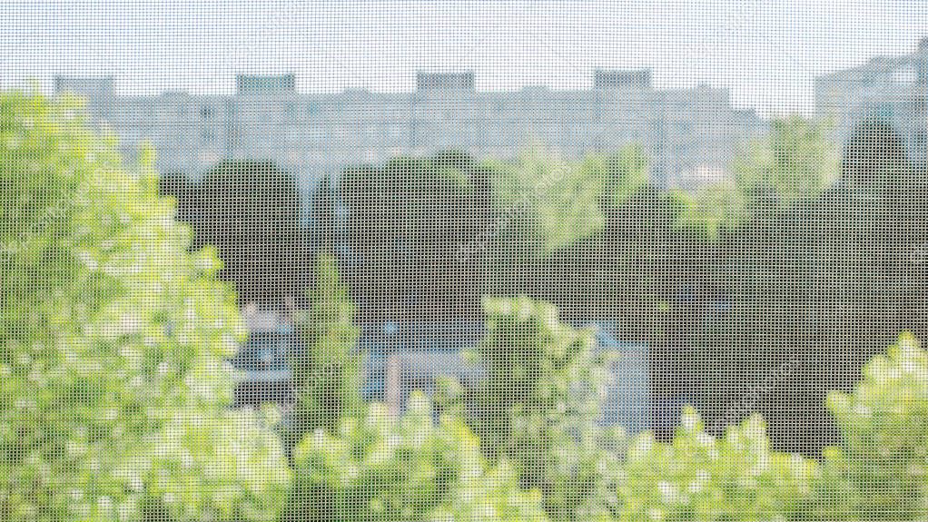
M477 91L473 72L420 71L411 93L301 94L292 74L237 77L236 95L114 95L112 78L56 78L87 100L92 120L132 159L148 142L160 172L196 178L222 159L271 159L308 194L322 176L399 155L458 149L513 159L545 146L564 159L644 147L657 185L683 188L723 176L739 146L767 131L728 89L658 91L650 70L598 70L587 90Z

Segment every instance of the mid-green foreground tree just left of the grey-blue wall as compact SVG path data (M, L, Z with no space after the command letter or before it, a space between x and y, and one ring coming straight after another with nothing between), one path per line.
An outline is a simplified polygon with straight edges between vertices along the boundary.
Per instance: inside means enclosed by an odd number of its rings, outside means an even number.
M625 434L597 424L604 375L592 333L561 324L546 302L484 299L483 308L488 332L468 354L483 378L450 407L467 414L489 458L542 491L553 520L608 517Z

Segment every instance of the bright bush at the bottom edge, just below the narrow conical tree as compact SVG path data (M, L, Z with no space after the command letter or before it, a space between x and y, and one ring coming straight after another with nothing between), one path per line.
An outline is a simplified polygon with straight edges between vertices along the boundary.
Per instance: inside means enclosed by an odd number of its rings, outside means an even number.
M367 417L319 429L294 451L296 494L288 520L545 520L538 493L518 489L504 464L487 469L458 418L437 425L420 393L393 419L379 403Z

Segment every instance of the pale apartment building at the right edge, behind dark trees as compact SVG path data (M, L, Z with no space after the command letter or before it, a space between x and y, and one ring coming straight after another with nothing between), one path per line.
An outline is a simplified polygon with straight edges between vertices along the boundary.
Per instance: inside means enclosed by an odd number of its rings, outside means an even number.
M889 123L906 145L909 160L922 170L928 163L928 37L914 53L874 57L864 65L816 79L818 117L834 125L844 146L857 125Z

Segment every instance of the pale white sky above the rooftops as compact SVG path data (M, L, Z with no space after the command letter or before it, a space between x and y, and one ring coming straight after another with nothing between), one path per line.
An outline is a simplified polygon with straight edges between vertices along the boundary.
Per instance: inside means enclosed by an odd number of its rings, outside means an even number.
M481 90L586 88L598 68L657 88L728 87L763 115L814 109L815 76L928 36L928 0L45 2L0 5L0 86L112 75L120 94L231 94L237 72L303 92L409 91L475 70Z

